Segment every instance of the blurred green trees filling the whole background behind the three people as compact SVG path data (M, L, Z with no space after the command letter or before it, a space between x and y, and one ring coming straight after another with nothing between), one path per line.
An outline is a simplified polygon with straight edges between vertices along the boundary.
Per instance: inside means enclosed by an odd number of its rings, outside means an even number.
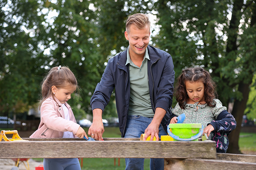
M36 107L43 75L65 65L80 89L70 100L77 119L92 114L90 99L108 59L124 51L125 21L134 13L156 17L150 45L172 55L176 77L204 67L224 106L234 103L237 128L228 152L240 153L244 110L253 115L255 1L253 0L0 0L0 114ZM173 106L175 106L175 99ZM232 110L232 108L229 108ZM116 115L115 93L103 116ZM254 116L248 116L255 118Z

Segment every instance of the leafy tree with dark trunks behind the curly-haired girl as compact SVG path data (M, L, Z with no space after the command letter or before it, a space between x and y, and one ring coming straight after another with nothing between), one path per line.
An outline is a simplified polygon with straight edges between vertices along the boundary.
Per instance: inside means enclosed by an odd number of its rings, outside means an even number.
M255 2L159 0L154 10L161 27L156 45L172 55L176 75L185 67L204 67L218 83L223 105L235 99L237 127L228 152L240 153L241 121L255 74Z

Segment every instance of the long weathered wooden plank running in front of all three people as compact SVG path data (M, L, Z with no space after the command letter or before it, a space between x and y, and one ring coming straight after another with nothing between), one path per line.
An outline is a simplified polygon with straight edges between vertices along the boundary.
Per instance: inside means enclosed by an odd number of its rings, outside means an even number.
M0 148L0 158L216 159L213 141L2 141Z

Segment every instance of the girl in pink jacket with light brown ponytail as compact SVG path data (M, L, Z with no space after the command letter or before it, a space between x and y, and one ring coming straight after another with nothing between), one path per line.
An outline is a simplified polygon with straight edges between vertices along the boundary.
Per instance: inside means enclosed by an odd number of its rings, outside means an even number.
M30 138L86 138L67 101L77 89L75 75L68 67L53 67L42 82L41 122ZM77 158L44 158L44 170L81 170Z

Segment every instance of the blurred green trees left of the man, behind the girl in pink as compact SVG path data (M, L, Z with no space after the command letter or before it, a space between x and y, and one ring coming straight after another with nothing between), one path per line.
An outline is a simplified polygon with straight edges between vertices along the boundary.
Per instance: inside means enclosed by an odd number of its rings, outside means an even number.
M66 65L80 86L78 99L69 103L91 114L90 99L107 60L128 46L124 21L138 11L133 6L145 8L130 1L3 1L1 111L28 111L39 99L44 74ZM114 98L113 93L104 115L116 116Z

